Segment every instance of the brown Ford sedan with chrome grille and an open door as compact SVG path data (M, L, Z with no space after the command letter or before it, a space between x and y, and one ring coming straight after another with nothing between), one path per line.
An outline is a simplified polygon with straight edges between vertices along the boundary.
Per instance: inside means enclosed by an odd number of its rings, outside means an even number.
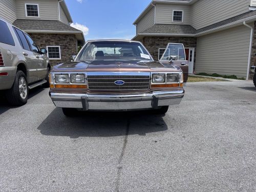
M184 48L173 49L161 63L138 41L88 41L73 62L52 69L50 97L67 116L76 110L166 113L184 96L183 73L174 65L187 66Z

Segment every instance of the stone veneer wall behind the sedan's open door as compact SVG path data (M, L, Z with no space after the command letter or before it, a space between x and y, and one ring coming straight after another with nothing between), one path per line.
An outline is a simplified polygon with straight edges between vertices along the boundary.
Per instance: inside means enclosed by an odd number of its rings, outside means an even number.
M185 48L195 48L194 71L196 67L196 51L197 38L196 37L144 37L143 45L147 48L155 60L158 60L159 48L166 48L169 42L176 44L184 44Z

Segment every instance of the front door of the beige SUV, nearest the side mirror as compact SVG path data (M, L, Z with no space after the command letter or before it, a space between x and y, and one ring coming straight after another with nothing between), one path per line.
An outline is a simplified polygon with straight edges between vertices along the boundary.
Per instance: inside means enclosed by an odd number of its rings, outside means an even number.
M44 79L47 74L45 57L41 54L35 41L27 33L25 33L25 36L28 39L32 52L35 56L35 62L37 63L37 80Z

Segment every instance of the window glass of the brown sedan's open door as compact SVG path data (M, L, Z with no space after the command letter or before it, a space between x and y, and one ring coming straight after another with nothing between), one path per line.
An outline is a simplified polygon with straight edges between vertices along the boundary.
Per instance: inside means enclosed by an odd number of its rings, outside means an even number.
M164 54L161 58L162 61L166 60L185 60L185 52L182 44L168 44Z

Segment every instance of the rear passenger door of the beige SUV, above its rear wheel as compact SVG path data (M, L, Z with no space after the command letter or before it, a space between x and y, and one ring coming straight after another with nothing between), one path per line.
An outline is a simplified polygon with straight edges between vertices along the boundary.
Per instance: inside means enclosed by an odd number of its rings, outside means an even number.
M29 45L29 42L27 40L27 38L25 37L23 31L13 27L14 32L18 38L19 44L20 46L22 46L22 53L25 57L25 62L27 65L27 80L28 83L32 83L34 81L37 81L37 63L36 63L36 57L34 55L34 53L31 50L31 47Z

